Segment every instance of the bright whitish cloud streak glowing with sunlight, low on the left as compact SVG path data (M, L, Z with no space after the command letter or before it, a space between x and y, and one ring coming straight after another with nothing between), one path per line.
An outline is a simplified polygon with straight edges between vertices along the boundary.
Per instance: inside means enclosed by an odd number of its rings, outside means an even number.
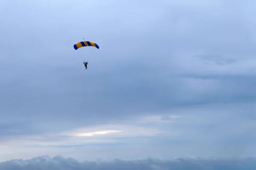
M171 115L172 116L172 115ZM176 118L177 116L172 116ZM122 124L105 124L87 127L78 127L60 133L44 133L41 135L22 135L13 136L13 138L1 142L0 147L8 150L14 146L19 147L64 147L79 146L84 144L109 144L120 142L125 138L157 136L157 134L166 133L156 127L145 126L147 123L164 123L161 116L143 116L141 118L123 121ZM125 142L122 140L122 142ZM3 153L3 152L2 152Z

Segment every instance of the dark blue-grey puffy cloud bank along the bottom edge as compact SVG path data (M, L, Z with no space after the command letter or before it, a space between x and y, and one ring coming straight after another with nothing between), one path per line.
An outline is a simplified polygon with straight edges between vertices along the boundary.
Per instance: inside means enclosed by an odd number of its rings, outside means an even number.
M29 160L11 160L0 163L0 170L254 170L255 158L239 159L200 159L200 158L173 158L173 159L138 159L113 161L84 161L79 162L72 158L48 155L38 156Z

